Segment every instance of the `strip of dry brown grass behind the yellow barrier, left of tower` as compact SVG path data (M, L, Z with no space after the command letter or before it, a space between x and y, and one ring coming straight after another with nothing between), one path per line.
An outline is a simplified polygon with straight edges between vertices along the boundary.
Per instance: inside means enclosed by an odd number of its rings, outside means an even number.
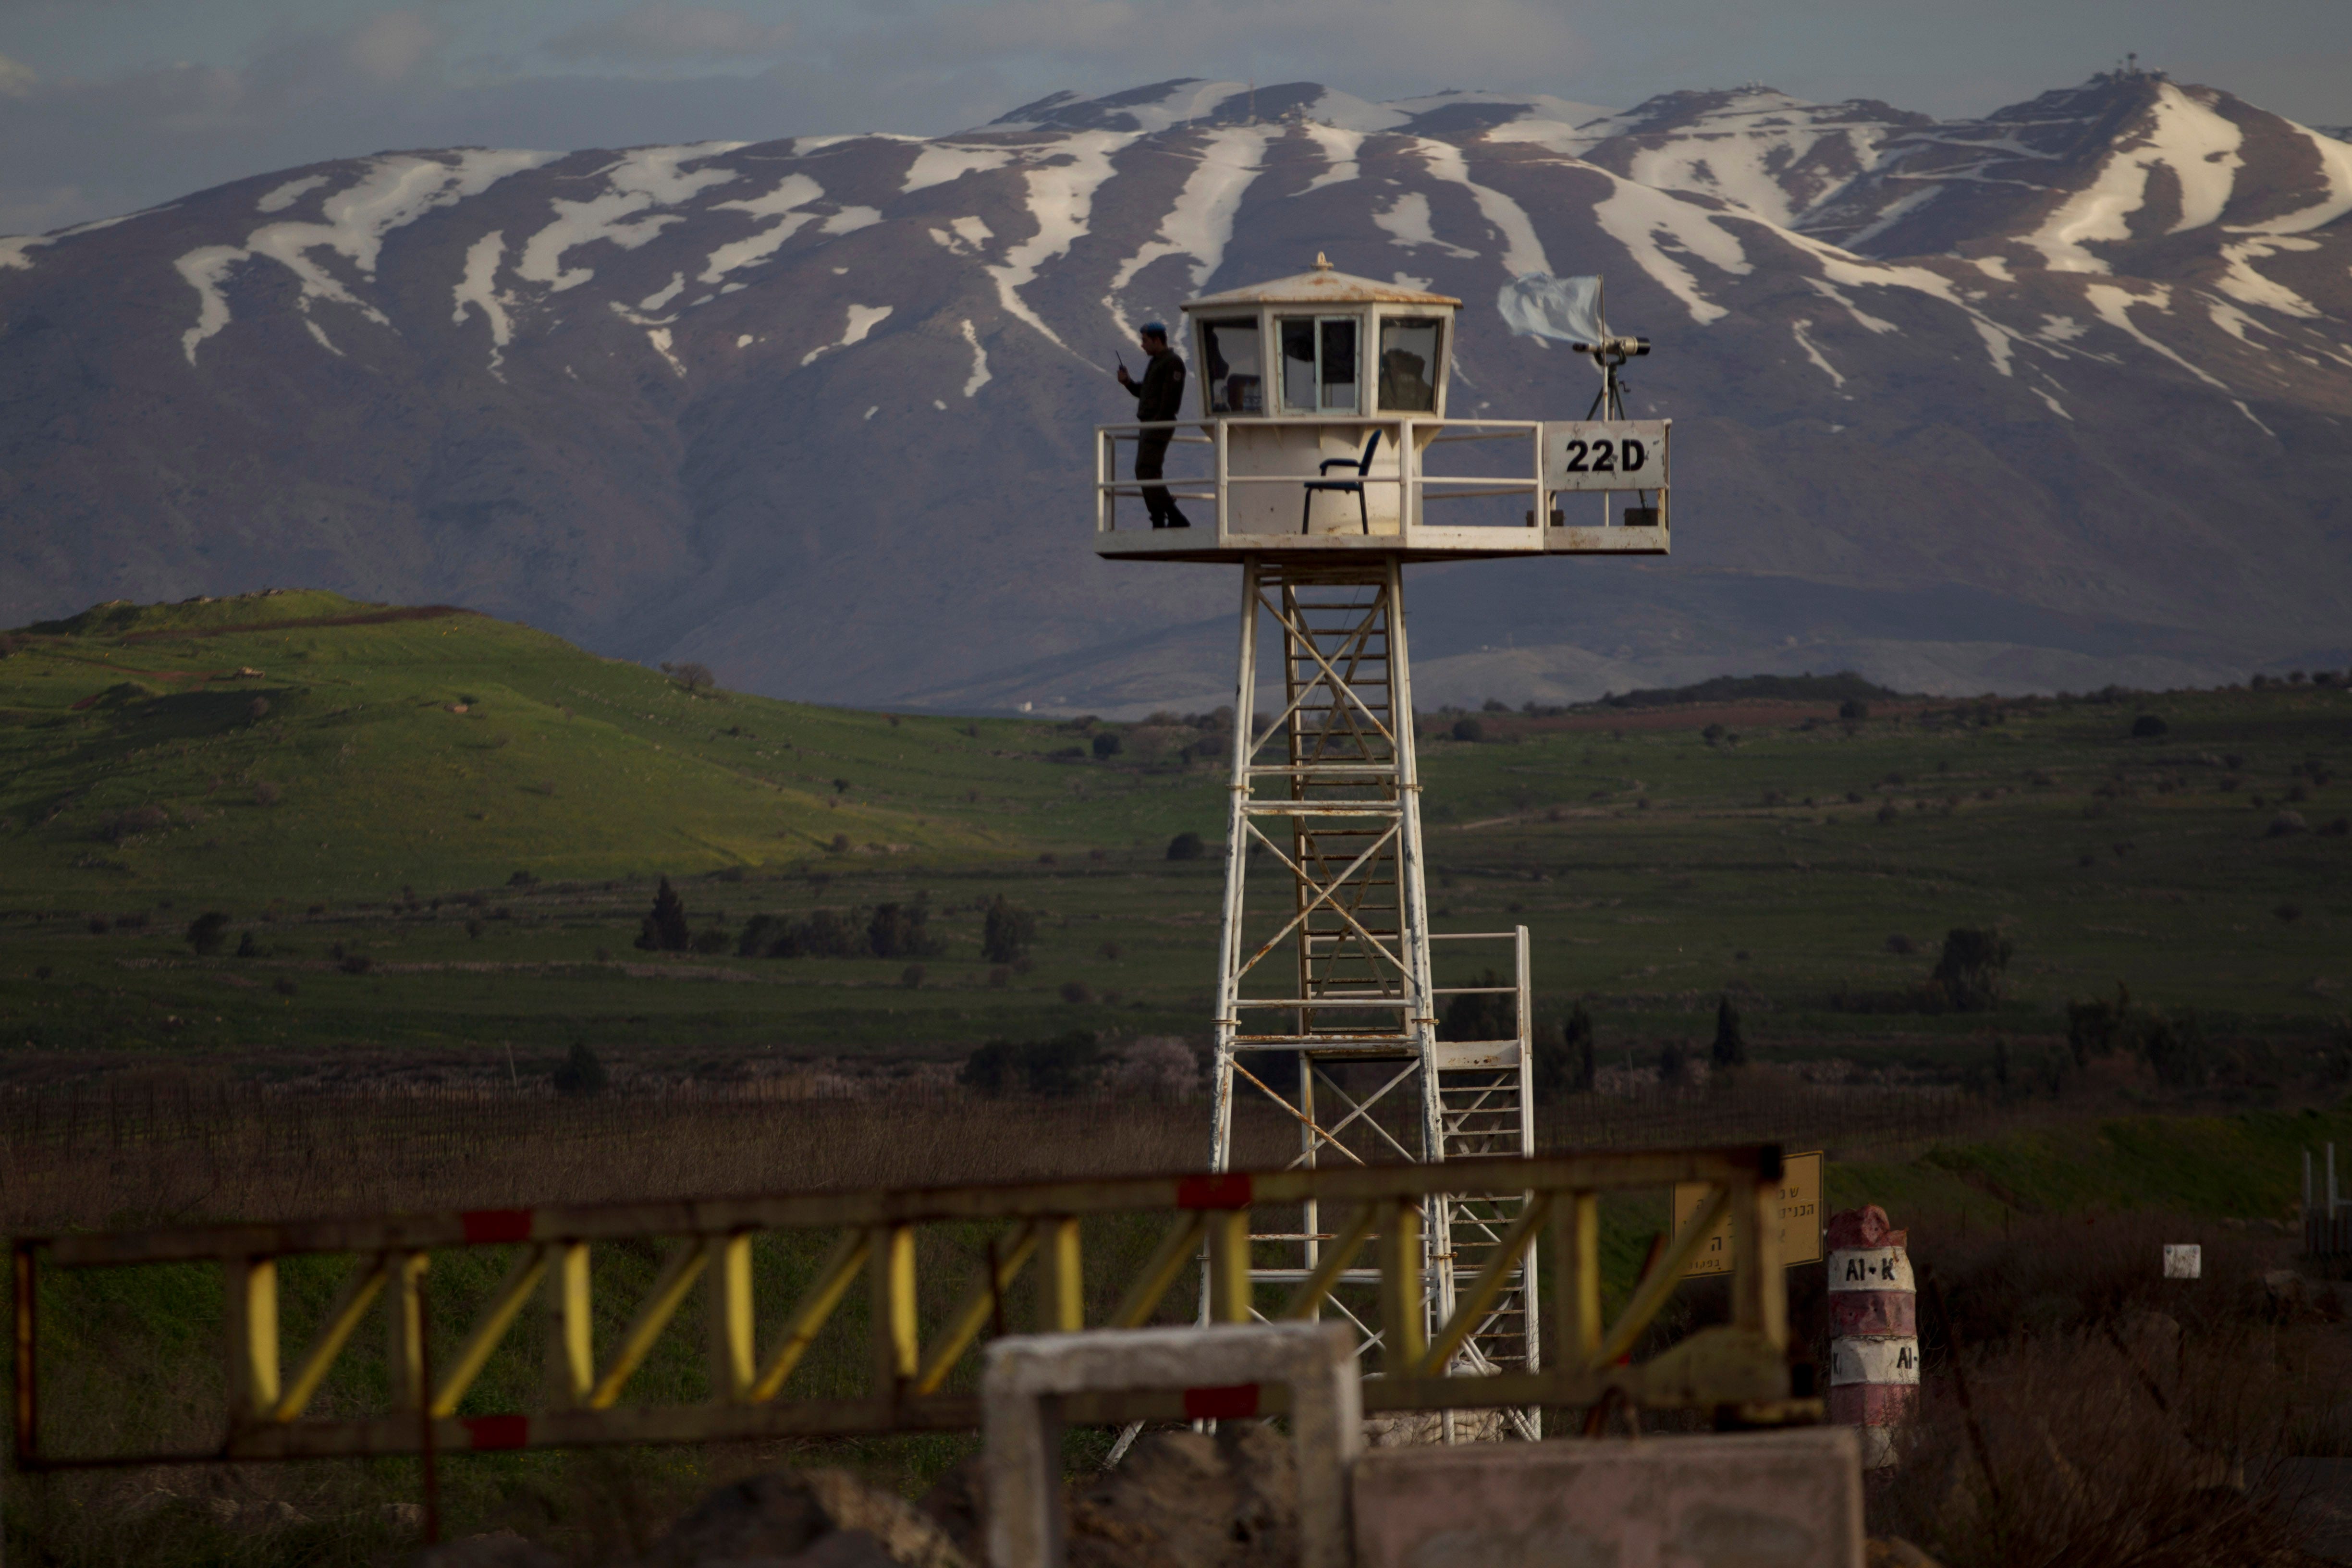
M1265 1119L1244 1119L1242 1143L1261 1159L1287 1152ZM1204 1107L1148 1100L743 1088L564 1100L480 1084L273 1093L101 1081L0 1098L0 1225L49 1232L1115 1175L1197 1168L1204 1154Z

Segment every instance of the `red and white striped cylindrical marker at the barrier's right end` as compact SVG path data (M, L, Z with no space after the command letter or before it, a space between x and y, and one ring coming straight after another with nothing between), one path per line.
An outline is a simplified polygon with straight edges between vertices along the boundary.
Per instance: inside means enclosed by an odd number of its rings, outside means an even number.
M1877 1204L1832 1213L1830 1420L1863 1429L1863 1467L1896 1462L1896 1429L1919 1408L1919 1293L1910 1232Z

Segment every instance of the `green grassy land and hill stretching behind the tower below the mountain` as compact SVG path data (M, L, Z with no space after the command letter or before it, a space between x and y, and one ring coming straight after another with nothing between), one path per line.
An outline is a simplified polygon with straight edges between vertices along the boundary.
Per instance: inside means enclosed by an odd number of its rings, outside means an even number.
M543 1070L574 1039L701 1070L1207 1018L1214 717L689 691L485 616L315 592L101 607L7 646L5 1072L94 1048ZM2133 738L2143 715L2166 733ZM2117 983L2288 1051L2345 1011L2340 684L1475 719L1456 741L1423 715L1437 929L1526 924L1538 1011L1585 999L1604 1060L1703 1039L1722 994L1766 1056L1898 1067L2053 1039L2065 1001ZM1167 858L1185 830L1207 858ZM663 875L720 952L633 947ZM1018 966L978 952L997 896L1040 914ZM915 900L946 940L920 976L734 957L755 914ZM216 957L183 940L207 910ZM1947 929L1994 924L2016 952L1999 1011L1905 999Z

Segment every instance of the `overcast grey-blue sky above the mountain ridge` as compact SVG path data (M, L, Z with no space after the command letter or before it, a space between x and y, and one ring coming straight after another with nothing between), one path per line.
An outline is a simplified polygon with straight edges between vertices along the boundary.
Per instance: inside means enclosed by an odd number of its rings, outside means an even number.
M0 233L381 148L938 134L1171 75L1976 115L2126 49L2352 125L2352 0L0 0Z

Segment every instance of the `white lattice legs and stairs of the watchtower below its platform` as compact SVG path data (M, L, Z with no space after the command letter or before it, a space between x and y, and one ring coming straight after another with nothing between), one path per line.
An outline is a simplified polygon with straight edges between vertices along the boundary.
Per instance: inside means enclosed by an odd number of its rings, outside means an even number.
M1294 1166L1534 1147L1524 931L1512 985L1498 987L1515 999L1515 1039L1437 1039L1439 999L1479 987L1437 987L1430 969L1402 588L1395 557L1249 557L1242 567L1209 1150L1218 1171L1232 1164L1237 1100L1279 1107L1296 1124ZM1282 701L1263 722L1261 639L1265 663L1279 658ZM1458 1288L1522 1201L1430 1201L1421 1215L1423 1342L1451 1319ZM1261 1215L1272 1227L1254 1244L1272 1267L1258 1279L1305 1279L1350 1218L1312 1206L1287 1220ZM1524 1288L1534 1276L1529 1258L1458 1359L1536 1366ZM1376 1288L1376 1269L1350 1267L1329 1295L1367 1349L1378 1342ZM1515 1425L1534 1434L1531 1420Z

